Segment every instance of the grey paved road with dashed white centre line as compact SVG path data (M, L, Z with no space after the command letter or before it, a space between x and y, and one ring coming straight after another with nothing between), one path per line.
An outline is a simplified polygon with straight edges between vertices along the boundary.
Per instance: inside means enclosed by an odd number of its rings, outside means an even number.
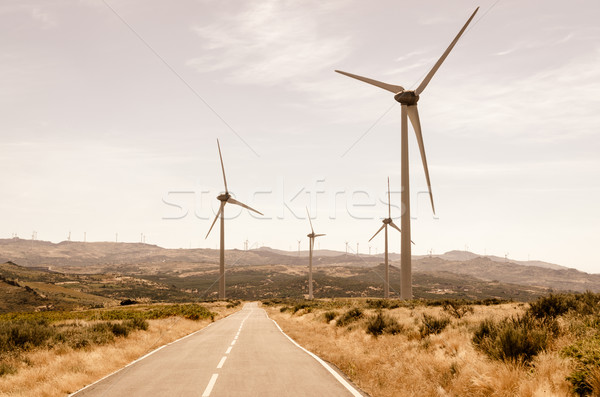
M362 395L318 360L248 303L73 396Z

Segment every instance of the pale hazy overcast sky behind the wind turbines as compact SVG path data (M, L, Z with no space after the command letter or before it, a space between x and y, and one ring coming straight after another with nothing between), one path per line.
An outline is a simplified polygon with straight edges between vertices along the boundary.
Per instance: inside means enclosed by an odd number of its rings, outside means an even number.
M409 131L413 254L599 273L597 1L3 0L0 237L368 252L400 219L400 106L421 95L435 217ZM375 124L375 125L374 125ZM374 126L373 126L374 125ZM400 237L391 231L392 251ZM371 245L383 250L383 236Z

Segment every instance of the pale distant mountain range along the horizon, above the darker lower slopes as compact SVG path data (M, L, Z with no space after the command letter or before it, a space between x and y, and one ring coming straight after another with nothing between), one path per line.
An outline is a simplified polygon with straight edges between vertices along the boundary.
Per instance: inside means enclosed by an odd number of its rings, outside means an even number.
M355 255L316 250L314 255L317 270L326 272L327 277L348 277L348 272L359 273L358 270L351 270L353 268L373 269L383 261L381 254ZM283 266L287 269L284 271L286 274L302 275L307 256L306 251L290 252L261 247L249 251L228 250L226 263L228 269ZM391 264L397 268L400 267L399 259L399 254L390 255ZM66 273L123 272L150 276L177 272L178 278L184 278L212 272L207 269L213 269L218 260L219 251L214 249L166 249L142 243L64 241L55 244L0 239L0 263L12 261L21 266L50 268ZM600 292L600 274L588 274L546 262L515 261L467 251L414 256L413 272L468 276L488 283L508 283L547 290Z

